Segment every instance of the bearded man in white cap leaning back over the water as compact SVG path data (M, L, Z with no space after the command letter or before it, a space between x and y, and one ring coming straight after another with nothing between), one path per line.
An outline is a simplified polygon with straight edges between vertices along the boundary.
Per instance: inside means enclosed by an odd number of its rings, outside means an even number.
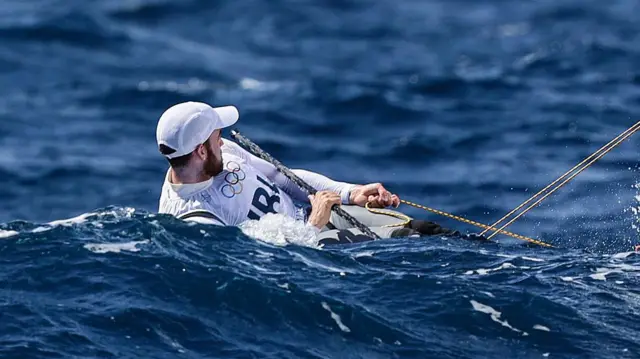
M318 191L315 196L309 196L271 163L221 137L222 129L235 124L238 118L238 110L233 106L213 108L200 102L180 103L162 114L156 129L156 140L170 168L162 186L160 213L227 226L258 220L267 213L280 213L305 221L320 232L330 229L327 227L330 220L340 222L335 216L332 217L331 207L334 204L352 205L361 210L367 202L377 208L397 207L400 204L398 196L379 183L357 185L334 181L306 170L293 170ZM310 212L308 207L304 208L296 202L310 203ZM364 209L364 213L369 212ZM397 219L394 220L397 222ZM389 223L388 219L369 222ZM430 222L413 222L410 227L424 227L426 223L430 226L429 230L434 231L434 224ZM337 229L350 229L344 223L340 227ZM355 233L351 230L352 234ZM381 232L388 237L422 232L420 228L395 227L385 230ZM435 233L438 230L448 232L437 226ZM334 237L331 238L334 242L353 242L354 238L362 240L362 237L349 235Z

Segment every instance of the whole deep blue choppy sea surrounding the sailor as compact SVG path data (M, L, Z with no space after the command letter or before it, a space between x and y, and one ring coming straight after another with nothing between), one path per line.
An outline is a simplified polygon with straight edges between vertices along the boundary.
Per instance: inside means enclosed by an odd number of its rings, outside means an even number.
M638 14L2 1L0 357L640 357L638 135L507 228L553 248L189 224L157 213L155 142L173 104L232 104L290 168L491 224L640 120Z

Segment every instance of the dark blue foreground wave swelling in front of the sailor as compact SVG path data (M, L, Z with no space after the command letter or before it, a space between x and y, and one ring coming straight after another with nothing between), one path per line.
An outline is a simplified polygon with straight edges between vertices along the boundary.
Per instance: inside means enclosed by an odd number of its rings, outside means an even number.
M640 257L631 251L444 238L282 246L121 207L6 223L2 234L5 355L79 355L75 343L91 356L333 356L344 340L373 357L592 355L602 350L592 333L614 355L637 335L635 314L589 319L637 306ZM42 334L28 332L37 322ZM453 349L445 336L468 345Z

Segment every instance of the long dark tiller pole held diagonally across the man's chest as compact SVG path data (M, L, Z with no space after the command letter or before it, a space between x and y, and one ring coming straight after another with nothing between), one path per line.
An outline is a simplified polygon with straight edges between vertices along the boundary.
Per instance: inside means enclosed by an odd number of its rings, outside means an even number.
M242 147L253 153L255 156L262 158L263 160L270 162L273 164L278 171L280 171L283 175L287 176L293 183L297 184L300 188L306 190L310 194L315 194L317 191L315 188L311 187L307 182L303 181L300 177L296 176L290 169L285 167L282 163L280 163L275 158L271 157L268 153L264 152L258 145L251 142L248 138L244 137L237 130L231 130L231 136L238 141ZM360 223L357 219L355 219L352 215L347 213L345 210L340 208L338 205L334 205L331 208L336 214L346 219L351 225L358 228L365 235L374 238L381 239L376 233L374 233L369 227Z

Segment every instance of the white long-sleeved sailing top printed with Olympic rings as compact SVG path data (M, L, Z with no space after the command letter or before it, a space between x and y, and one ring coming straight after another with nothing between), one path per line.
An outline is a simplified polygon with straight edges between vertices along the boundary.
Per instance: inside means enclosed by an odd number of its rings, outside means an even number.
M252 155L235 142L223 139L221 150L223 171L204 182L173 184L168 170L158 212L227 226L257 220L266 213L282 213L304 220L305 211L294 201L309 203L306 191L273 164ZM355 186L306 170L294 169L292 172L318 191L339 193L344 204L348 204L349 193Z

